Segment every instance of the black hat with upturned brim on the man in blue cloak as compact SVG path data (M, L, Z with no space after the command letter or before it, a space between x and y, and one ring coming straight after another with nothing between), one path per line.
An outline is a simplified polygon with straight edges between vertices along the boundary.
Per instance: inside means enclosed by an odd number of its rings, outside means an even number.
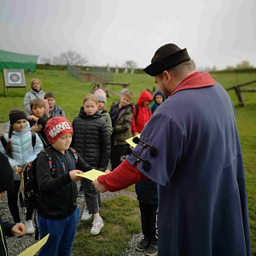
M154 57L148 67L143 71L154 77L165 70L175 67L184 61L189 61L187 49L180 49L176 44L165 44L154 53Z

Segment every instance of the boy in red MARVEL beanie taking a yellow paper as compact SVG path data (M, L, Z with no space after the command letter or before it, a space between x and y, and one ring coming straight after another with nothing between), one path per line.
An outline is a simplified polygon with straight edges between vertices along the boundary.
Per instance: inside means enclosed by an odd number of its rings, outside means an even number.
M49 148L39 154L37 162L38 228L40 238L49 235L48 241L38 255L71 255L73 239L79 221L77 207L77 184L82 179L76 174L91 170L90 166L69 149L73 127L63 117L49 119L44 132ZM55 172L49 165L55 159ZM76 170L79 169L79 170ZM83 172L82 172L83 171Z

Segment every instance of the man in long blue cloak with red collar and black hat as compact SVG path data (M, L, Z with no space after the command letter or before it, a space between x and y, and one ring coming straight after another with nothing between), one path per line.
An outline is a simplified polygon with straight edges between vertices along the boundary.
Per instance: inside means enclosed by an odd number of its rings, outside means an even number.
M159 255L249 256L247 190L236 113L187 49L166 44L144 69L166 97L126 160L94 181L116 191L149 178L158 184ZM149 163L149 164L148 164Z

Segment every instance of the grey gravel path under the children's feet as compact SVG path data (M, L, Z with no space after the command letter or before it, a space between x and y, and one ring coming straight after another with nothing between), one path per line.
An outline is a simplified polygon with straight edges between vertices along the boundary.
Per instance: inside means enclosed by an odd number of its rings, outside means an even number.
M79 184L78 184L79 187ZM128 191L128 190L121 190L118 192L106 192L102 194L102 201L110 200L116 197L119 197L120 195L127 195L131 197L132 199L136 199L136 195L134 192ZM80 215L83 212L84 209L84 197L78 197L78 207L80 211ZM13 223L13 219L9 213L9 208L7 204L7 197L3 197L0 201L0 216L3 221L9 221ZM25 210L20 208L20 218L21 222L24 223L25 221ZM131 255L144 255L144 253L139 253L136 251L135 246L138 241L140 241L143 238L142 234L135 235L131 238L130 241L130 248L126 249L125 252L121 253L122 256L131 256ZM9 250L9 256L16 256L19 253L23 252L27 247L32 246L33 243L35 243L34 240L34 234L32 235L25 235L21 236L19 238L16 237L6 237L7 244L8 244L8 250ZM82 255L81 255L82 256Z

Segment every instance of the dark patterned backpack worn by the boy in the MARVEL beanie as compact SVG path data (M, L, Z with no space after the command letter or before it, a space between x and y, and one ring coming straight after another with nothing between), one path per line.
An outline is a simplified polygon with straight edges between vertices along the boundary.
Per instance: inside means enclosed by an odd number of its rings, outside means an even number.
M76 164L79 160L77 152L73 148L68 148L69 152L73 155ZM35 240L38 240L38 224L36 220L36 213L38 209L38 195L40 190L38 189L38 181L37 181L37 163L38 157L40 154L46 154L48 156L49 169L51 178L55 175L56 168L56 159L55 155L52 154L49 148L44 148L43 151L39 152L37 157L29 162L24 168L23 176L24 176L24 206L26 208L31 207L35 210L34 222L36 224L36 232L35 232Z

